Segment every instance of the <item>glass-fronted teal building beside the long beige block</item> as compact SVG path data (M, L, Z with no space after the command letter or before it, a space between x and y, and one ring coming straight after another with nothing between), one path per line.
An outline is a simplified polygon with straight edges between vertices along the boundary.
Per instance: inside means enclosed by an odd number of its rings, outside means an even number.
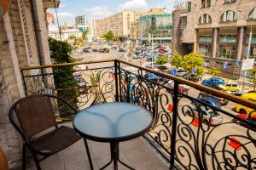
M149 14L140 17L139 40L147 45L172 45L172 14Z

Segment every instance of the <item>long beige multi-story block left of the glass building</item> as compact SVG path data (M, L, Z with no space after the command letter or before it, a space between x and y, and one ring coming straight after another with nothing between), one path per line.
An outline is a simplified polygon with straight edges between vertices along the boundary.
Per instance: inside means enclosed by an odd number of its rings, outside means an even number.
M140 16L163 13L164 10L164 8L151 8L148 12L124 10L105 19L96 20L96 37L102 37L106 32L113 31L115 36L128 38L131 36L132 22L138 21Z

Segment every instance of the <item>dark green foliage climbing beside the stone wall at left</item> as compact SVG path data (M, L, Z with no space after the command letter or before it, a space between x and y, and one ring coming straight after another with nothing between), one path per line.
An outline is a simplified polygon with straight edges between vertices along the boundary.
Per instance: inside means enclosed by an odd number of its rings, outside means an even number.
M75 61L70 56L73 47L67 42L57 41L49 38L50 57L55 60L56 64L72 63ZM66 99L71 105L76 105L76 97L79 94L77 81L73 76L73 65L58 66L53 68L55 88L58 90L57 95Z

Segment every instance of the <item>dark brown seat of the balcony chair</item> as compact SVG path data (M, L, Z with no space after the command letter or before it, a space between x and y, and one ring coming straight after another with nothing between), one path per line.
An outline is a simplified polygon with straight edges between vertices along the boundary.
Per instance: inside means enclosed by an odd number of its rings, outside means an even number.
M71 127L59 127L32 141L32 147L40 155L51 155L67 148L81 137Z

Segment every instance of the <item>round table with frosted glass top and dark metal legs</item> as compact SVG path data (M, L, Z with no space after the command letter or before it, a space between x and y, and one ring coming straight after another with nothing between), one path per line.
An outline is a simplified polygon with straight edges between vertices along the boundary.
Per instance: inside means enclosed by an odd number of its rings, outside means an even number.
M140 105L112 102L79 111L73 119L73 127L84 139L110 143L111 161L101 169L112 161L114 170L118 169L118 161L133 169L119 160L119 142L147 133L153 121L153 114ZM90 158L89 161L93 168Z

